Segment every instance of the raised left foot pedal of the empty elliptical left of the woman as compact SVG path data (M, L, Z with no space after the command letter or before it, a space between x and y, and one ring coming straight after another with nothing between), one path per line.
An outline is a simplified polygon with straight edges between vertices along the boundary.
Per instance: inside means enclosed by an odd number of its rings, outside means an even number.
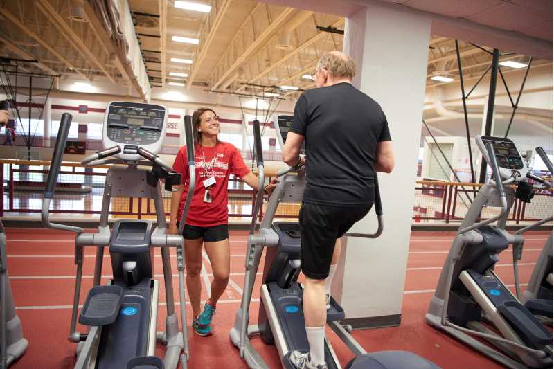
M82 307L79 323L97 327L114 323L122 300L123 288L120 286L92 287Z

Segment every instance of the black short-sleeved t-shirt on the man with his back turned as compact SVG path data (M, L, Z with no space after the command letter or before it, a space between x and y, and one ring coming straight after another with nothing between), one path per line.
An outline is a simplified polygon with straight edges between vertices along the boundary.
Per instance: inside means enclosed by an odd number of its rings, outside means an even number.
M373 204L377 143L391 140L375 100L346 82L308 90L296 102L290 131L306 141L303 201Z

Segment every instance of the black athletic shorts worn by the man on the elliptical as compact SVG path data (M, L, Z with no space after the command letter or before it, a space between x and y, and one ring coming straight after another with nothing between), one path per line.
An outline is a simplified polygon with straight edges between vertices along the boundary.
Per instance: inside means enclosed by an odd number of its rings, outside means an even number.
M300 209L301 269L305 276L325 279L333 257L334 243L366 216L373 204L330 206L302 203Z

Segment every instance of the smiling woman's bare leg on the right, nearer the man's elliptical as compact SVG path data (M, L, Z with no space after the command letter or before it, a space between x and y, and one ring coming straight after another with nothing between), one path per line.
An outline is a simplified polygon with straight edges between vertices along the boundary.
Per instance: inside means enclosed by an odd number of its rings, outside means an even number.
M210 258L213 271L213 282L211 284L211 294L208 304L214 309L217 300L227 288L229 282L230 255L229 255L229 238L217 242L204 242L206 253Z

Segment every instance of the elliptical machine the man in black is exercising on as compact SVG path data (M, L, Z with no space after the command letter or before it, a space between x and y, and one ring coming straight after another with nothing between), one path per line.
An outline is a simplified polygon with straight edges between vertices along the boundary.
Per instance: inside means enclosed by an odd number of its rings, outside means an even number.
M278 116L276 130L278 142L284 147L292 116ZM298 222L273 222L278 204L300 202L306 185L304 167L285 168L277 173L281 180L269 197L265 215L256 233L256 215L263 202L264 163L260 123L253 122L256 161L258 164L258 193L253 208L253 218L246 252L246 275L240 309L235 314L235 325L229 332L233 344L239 349L240 357L249 368L266 369L267 363L250 343L253 335L259 334L262 341L276 345L283 368L290 368L288 354L292 350L309 350L305 332L302 308L303 287L297 282L300 273L300 235ZM375 238L383 229L382 208L377 179L375 180L375 211L379 219L377 232L371 235L352 234L357 237ZM252 298L256 273L264 247L267 247L261 289L258 324L249 324L249 307ZM357 357L348 363L348 368L413 368L436 369L438 366L412 354L411 352L388 351L367 354L364 348L339 323L344 318L342 307L331 298L331 307L327 314L327 323L337 332ZM325 338L325 362L329 369L341 368L337 355L328 339Z

